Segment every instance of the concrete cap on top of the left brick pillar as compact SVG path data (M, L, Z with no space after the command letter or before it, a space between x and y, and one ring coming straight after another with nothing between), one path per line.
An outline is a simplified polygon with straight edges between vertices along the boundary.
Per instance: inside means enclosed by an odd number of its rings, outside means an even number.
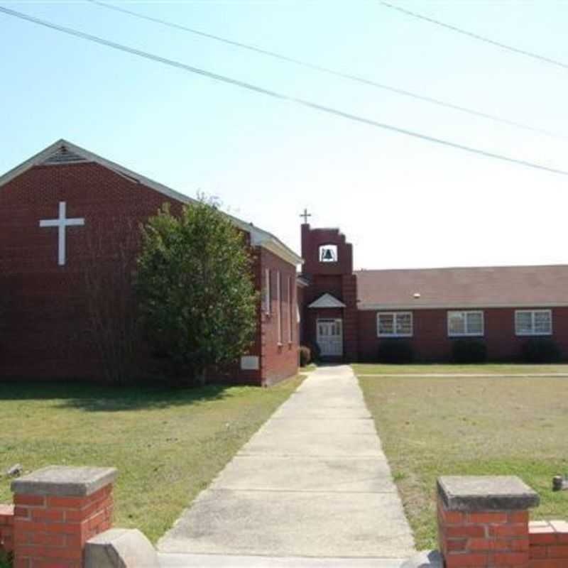
M116 479L114 467L47 466L14 479L13 493L87 497Z

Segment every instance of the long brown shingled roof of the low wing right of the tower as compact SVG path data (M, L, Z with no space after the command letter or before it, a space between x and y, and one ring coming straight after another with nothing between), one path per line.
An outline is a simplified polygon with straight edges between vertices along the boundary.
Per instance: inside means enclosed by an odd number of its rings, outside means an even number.
M359 310L568 305L567 265L356 271L355 275Z

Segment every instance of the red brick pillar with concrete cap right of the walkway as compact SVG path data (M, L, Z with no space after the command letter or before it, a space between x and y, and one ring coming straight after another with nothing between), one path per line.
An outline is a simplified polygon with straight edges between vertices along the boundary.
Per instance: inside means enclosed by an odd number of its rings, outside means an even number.
M448 476L437 482L445 568L529 568L528 509L539 496L515 476Z

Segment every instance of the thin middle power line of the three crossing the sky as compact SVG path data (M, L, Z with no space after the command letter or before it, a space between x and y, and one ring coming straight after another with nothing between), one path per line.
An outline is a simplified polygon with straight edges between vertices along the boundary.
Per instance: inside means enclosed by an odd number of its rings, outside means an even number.
M141 18L143 20L147 20L147 21L151 21L153 23L158 23L160 24L160 26L167 26L168 28L175 28L177 30L180 31L185 31L188 33L192 33L195 35L200 35L203 38L207 38L207 39L211 39L214 41L218 41L220 43L225 43L227 45L233 45L234 47L237 48L241 48L241 49L246 49L249 51L252 51L253 53L259 53L261 55L267 55L268 57L280 60L280 61L284 61L287 63L292 63L293 65L299 65L300 67L305 67L307 69L310 69L312 71L317 71L317 72L321 72L321 73L326 73L327 75L333 75L334 77L341 77L342 79L346 79L349 81L354 81L354 82L358 82L361 84L365 84L368 87L376 87L377 89L383 89L395 94L400 94L403 95L404 97L411 97L413 99L417 99L419 101L423 101L423 102L427 102L430 104L437 104L440 107L446 107L448 109L452 109L454 111L459 111L459 112L464 112L466 114L470 114L472 116L479 116L483 119L488 119L488 120L492 120L492 121L496 121L496 122L500 122L501 124L507 124L508 126L515 126L516 128L520 128L520 129L524 129L524 130L528 130L528 131L532 131L532 132L537 132L540 134L545 134L546 136L552 136L553 138L562 138L563 140L566 140L565 136L562 136L561 134L557 134L551 131L547 131L545 129L540 129L537 128L535 126L529 126L528 124L523 124L521 122L517 122L517 121L513 121L513 120L509 120L509 119L503 119L501 118L501 116L496 116L494 114L488 114L486 112L482 112L482 111L477 111L475 109L469 109L467 107L462 107L459 104L454 104L451 102L447 102L447 101L442 101L441 99L436 99L435 97L428 97L427 95L423 95L423 94L417 94L415 92L411 92L408 91L406 89L400 89L398 87L392 87L391 85L388 84L383 84L383 83L379 83L370 79L366 79L366 77L361 77L359 75L351 75L350 73L344 73L342 71L337 71L334 69L331 69L330 67L323 67L322 65L317 65L315 63L311 63L305 60L300 60L300 59L295 59L295 58L290 58L288 57L288 55L282 55L281 53L276 53L274 51L270 51L270 50L266 50L264 48L259 48L256 45L251 45L248 43L241 43L239 41L234 41L234 40L230 40L228 38L224 38L221 35L214 35L212 33L207 33L204 31L200 31L197 30L195 28L189 28L187 26L182 26L179 23L175 23L172 21L168 21L168 20L163 20L161 18L155 18L153 16L147 16L146 14L140 13L140 12L136 12L133 10L129 10L126 8L122 8L121 6L114 6L114 4L107 4L107 2L102 2L99 0L87 0L89 1L91 4L96 4L97 6L101 6L102 8L106 8L109 10L114 10L116 12L121 12L121 13L125 13L128 14L129 16L133 16L135 18Z

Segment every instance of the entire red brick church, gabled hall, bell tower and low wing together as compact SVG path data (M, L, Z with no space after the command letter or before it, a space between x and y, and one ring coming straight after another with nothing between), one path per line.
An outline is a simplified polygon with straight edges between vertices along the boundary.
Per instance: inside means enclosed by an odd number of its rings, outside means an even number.
M175 213L192 200L65 140L0 177L0 380L100 379L121 364L109 351L133 330L138 226L165 202ZM475 338L488 359L514 361L544 337L568 358L568 266L354 271L339 229L302 224L300 257L231 220L259 293L256 337L232 381L293 376L300 340L329 360L376 361L388 340L410 343L418 361L448 361L457 339ZM143 345L129 355L152 368Z

